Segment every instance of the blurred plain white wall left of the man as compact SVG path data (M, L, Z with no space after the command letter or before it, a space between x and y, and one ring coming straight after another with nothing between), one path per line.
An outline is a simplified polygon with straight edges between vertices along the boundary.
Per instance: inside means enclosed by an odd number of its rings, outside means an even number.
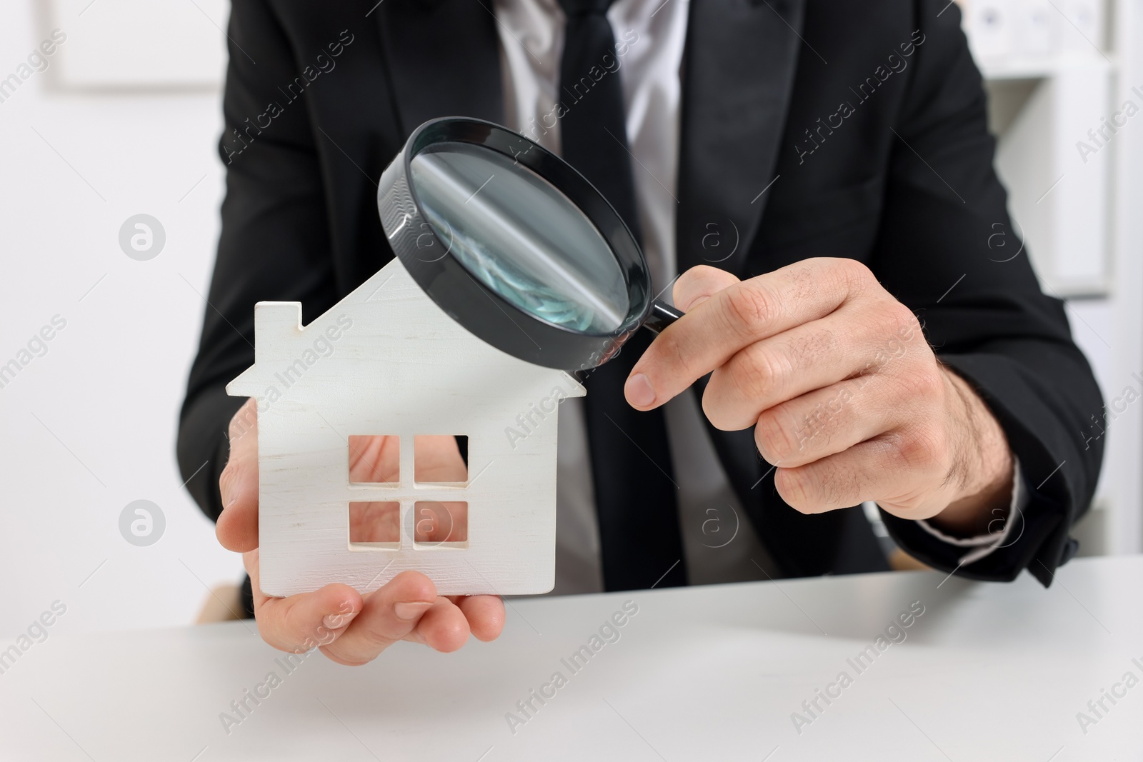
M81 71L77 56L99 49L94 38L117 3L62 2L50 25L48 6L0 5L0 79L18 75L51 27L67 35L47 71L0 90L0 363L54 315L66 321L47 353L0 388L5 639L57 599L67 612L53 632L183 625L205 585L241 578L240 559L218 546L181 488L174 455L218 233L219 94L187 82L170 91L155 82L142 93L49 88L65 63ZM215 6L215 17L187 2L181 23L200 25L194 39L221 49L222 5L198 5ZM136 214L166 231L146 262L119 246ZM149 547L119 530L137 499L166 518Z

